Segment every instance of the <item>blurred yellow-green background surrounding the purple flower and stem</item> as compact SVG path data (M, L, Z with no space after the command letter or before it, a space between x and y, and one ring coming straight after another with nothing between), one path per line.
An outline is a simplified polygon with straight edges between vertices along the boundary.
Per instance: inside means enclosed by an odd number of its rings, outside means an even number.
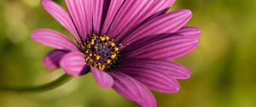
M61 4L64 4L62 1ZM177 0L171 8L189 8L188 25L201 28L200 45L176 61L192 70L175 94L156 93L159 107L256 106L256 1ZM0 85L34 86L51 82L62 70L42 65L51 48L33 42L38 28L68 34L40 7L39 0L0 0ZM0 92L0 107L136 107L92 76L80 76L46 93Z

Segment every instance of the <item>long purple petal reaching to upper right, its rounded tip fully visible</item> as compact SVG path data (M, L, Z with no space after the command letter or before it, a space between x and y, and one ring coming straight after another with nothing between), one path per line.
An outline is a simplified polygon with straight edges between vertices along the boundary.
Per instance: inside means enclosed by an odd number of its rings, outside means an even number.
M143 37L161 33L174 33L183 27L191 18L191 11L188 9L180 9L168 14L160 15L154 20L148 21L146 24L133 31L122 41L124 47Z

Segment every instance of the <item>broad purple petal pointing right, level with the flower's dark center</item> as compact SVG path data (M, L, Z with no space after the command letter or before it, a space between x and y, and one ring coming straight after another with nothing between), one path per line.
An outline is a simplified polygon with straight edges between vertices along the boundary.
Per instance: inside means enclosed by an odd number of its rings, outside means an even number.
M177 59L190 53L196 48L198 40L188 37L168 37L157 42L149 43L129 53L123 53L125 59Z

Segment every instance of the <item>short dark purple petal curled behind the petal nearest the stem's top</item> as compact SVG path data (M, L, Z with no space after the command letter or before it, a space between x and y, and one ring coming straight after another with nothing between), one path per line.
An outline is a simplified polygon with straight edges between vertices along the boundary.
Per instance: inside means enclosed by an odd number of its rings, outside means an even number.
M63 50L53 50L44 57L44 66L48 69L56 69L60 67L60 60L63 55L68 53Z

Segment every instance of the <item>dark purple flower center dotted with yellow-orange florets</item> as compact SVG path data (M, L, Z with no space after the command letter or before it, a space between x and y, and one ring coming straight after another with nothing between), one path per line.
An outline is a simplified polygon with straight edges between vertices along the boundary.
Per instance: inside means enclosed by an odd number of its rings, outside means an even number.
M112 70L118 62L122 44L113 42L106 35L95 35L87 38L82 46L87 65L99 70Z

